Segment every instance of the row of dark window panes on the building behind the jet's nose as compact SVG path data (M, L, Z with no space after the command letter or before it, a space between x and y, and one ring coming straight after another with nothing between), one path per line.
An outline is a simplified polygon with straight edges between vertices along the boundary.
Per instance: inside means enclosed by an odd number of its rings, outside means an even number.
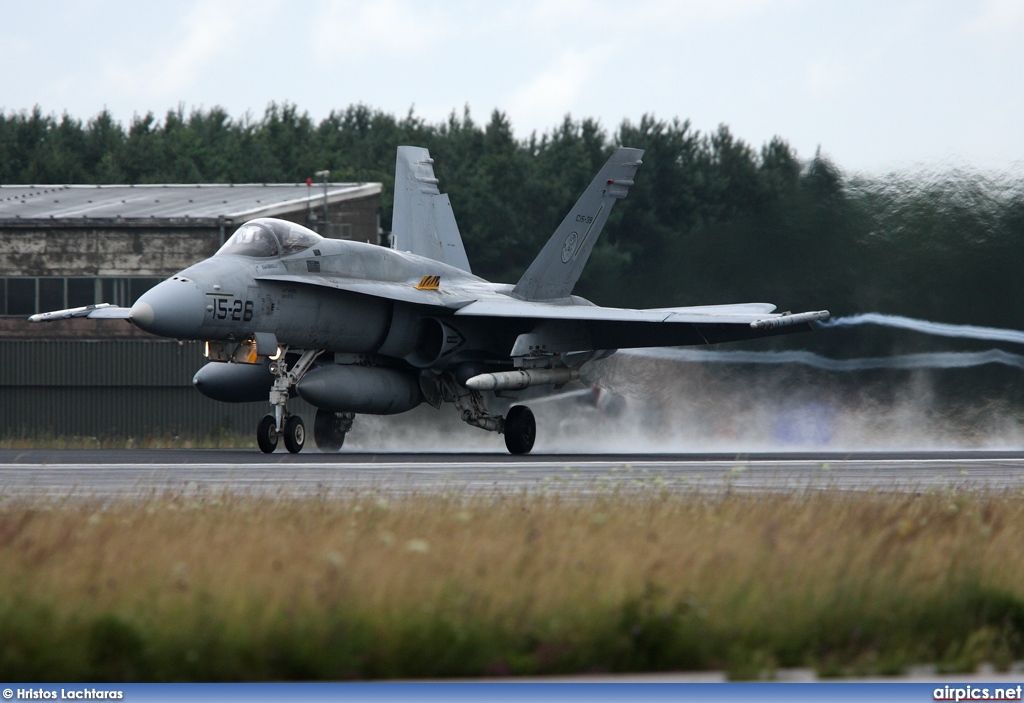
M0 278L0 315L28 317L95 303L131 307L161 280L156 276L8 276Z

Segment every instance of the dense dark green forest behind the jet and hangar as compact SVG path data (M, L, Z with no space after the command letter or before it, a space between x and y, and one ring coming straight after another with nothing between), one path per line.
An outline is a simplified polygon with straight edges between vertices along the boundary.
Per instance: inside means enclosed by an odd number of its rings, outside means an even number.
M296 182L330 169L332 180L382 181L388 227L399 144L430 149L474 272L493 280L518 278L623 144L646 153L578 287L595 302L768 301L1024 329L1024 181L847 175L820 152L800 158L781 137L758 148L724 125L701 133L644 117L609 133L566 117L517 139L503 113L482 124L468 108L440 124L361 104L319 122L292 104L260 118L179 108L127 126L36 108L0 114L0 183ZM814 344L844 355L893 344L828 338Z

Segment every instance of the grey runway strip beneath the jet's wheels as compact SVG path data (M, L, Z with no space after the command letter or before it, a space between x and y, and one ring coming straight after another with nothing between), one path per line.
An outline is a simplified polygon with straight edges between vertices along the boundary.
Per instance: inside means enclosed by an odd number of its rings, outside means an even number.
M0 498L1022 491L1024 451L754 454L261 454L0 450Z

